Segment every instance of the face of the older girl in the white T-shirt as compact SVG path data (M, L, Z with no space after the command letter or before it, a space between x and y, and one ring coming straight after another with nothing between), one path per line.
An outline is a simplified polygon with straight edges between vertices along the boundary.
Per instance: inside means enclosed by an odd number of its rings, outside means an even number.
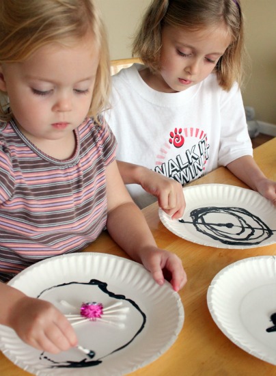
M164 27L161 71L156 75L155 89L181 92L204 80L230 42L230 34L224 24L199 31Z

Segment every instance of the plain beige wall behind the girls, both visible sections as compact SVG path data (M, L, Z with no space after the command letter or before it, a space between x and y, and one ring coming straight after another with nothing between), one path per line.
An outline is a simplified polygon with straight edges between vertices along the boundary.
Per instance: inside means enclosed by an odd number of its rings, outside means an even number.
M151 0L96 0L109 33L111 59L131 57L133 33ZM256 118L276 124L276 0L241 0L252 72L244 103Z

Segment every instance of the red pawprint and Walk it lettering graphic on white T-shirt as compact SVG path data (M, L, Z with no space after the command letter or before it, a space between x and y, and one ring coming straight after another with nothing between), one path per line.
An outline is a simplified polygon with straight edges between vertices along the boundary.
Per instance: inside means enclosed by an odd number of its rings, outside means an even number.
M204 175L209 147L201 129L175 128L156 155L154 171L185 185Z

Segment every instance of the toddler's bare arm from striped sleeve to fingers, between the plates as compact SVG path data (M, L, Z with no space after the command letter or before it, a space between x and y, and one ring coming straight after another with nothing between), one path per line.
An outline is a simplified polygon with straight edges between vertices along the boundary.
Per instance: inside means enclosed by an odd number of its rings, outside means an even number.
M163 284L164 274L178 291L187 282L187 276L178 256L157 247L143 213L130 198L116 163L107 167L107 229L111 237L136 260L148 269L158 284Z

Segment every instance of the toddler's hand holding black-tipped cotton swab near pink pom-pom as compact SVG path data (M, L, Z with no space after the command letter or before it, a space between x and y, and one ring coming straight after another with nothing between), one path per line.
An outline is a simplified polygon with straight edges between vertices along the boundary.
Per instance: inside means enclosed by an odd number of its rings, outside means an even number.
M48 301L23 297L10 314L10 327L28 345L59 353L77 345L77 336L66 317Z

